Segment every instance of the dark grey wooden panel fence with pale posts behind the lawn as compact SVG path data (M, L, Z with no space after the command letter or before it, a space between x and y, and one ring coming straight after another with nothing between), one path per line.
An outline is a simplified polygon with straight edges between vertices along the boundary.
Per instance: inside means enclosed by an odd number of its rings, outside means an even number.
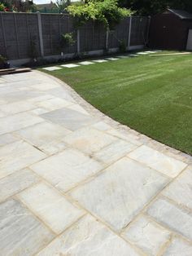
M64 49L65 55L94 54L106 48L116 51L120 41L133 50L146 44L149 21L148 17L129 17L107 33L103 25L94 22L76 30L70 15L0 12L0 54L9 60L60 55L60 35L70 32L76 43Z

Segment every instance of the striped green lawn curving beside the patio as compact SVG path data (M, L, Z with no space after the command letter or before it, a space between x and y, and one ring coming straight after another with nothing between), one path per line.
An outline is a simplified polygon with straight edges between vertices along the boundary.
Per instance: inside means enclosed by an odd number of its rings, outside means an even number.
M192 55L141 55L47 73L116 121L192 154Z

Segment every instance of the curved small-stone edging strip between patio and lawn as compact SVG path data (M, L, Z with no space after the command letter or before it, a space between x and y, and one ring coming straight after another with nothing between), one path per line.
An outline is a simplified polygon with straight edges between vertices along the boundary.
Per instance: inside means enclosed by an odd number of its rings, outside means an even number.
M55 82L58 82L61 86L68 90L69 95L71 95L72 98L75 99L77 104L80 104L81 107L85 108L85 110L92 116L99 117L101 121L105 121L112 128L119 130L124 134L129 133L129 135L135 135L138 137L138 142L141 142L142 144L145 144L150 148L154 148L155 150L164 153L168 157L173 157L179 161L184 161L187 165L192 165L192 156L186 154L185 152L181 152L175 148L171 148L168 145L165 145L164 143L160 143L155 139L151 139L146 135L142 135L136 130L129 128L129 126L124 126L120 124L120 122L113 120L111 117L107 117L104 113L99 111L97 108L94 108L93 105L89 104L85 99L83 99L81 95L78 95L77 92L74 89L72 89L71 86L68 86L67 83L61 81L59 78L54 77L48 73L41 72L39 70L33 69L33 72L43 73L45 76L51 77L51 79L55 80Z

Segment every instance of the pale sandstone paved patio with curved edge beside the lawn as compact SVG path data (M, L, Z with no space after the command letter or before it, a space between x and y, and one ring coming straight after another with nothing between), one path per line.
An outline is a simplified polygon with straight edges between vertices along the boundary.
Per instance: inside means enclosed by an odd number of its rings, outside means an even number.
M54 77L0 77L0 255L192 255L192 159Z

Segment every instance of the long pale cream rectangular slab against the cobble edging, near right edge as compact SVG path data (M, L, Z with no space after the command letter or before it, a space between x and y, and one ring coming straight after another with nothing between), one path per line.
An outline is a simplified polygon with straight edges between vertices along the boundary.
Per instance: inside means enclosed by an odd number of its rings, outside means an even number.
M172 157L167 157L163 153L145 145L129 153L129 157L155 170L159 170L171 178L176 177L186 167L184 162L178 161Z

